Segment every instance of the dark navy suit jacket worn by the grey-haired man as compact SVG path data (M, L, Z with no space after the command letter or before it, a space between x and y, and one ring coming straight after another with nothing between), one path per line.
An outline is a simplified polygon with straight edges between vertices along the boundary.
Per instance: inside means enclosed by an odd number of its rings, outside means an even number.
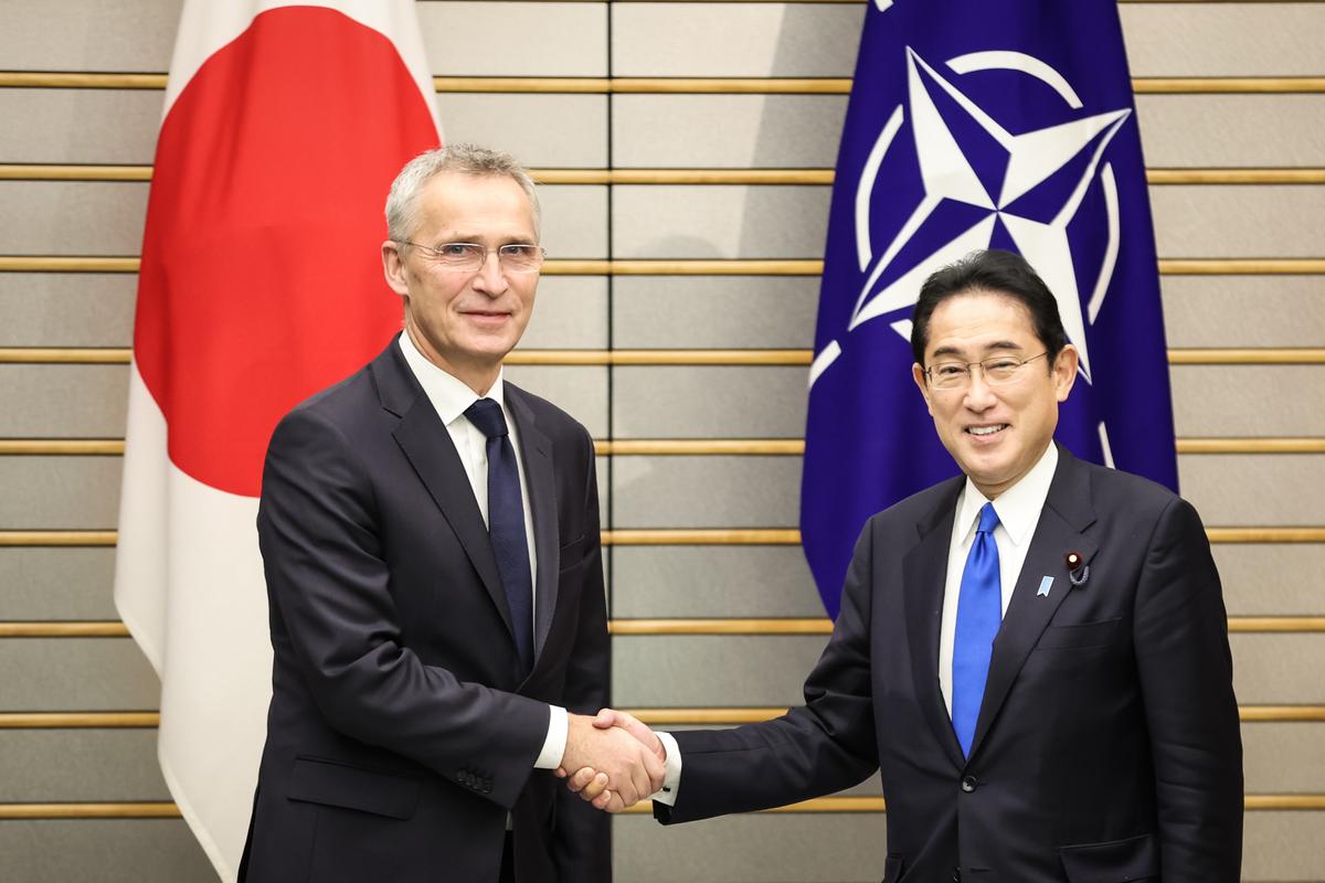
M240 879L611 879L608 826L534 770L547 703L607 704L594 446L506 384L537 549L537 661L518 674L488 530L398 343L277 426L258 539L272 707Z

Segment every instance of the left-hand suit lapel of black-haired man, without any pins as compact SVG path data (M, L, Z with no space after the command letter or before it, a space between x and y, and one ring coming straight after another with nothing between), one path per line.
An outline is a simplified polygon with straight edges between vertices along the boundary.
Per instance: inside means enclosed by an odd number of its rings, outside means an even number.
M962 478L949 482L938 504L916 527L920 544L902 561L905 580L906 639L912 654L912 676L916 698L925 720L938 743L957 767L965 765L962 747L953 732L942 690L938 686L938 641L943 618L943 581L947 576L947 551L957 515L957 494Z

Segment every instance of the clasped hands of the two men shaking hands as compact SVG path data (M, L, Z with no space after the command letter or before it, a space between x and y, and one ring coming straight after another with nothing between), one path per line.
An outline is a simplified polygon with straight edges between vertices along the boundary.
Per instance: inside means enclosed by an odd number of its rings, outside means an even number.
M620 813L662 788L666 749L657 735L624 711L570 715L566 753L556 777L608 813Z

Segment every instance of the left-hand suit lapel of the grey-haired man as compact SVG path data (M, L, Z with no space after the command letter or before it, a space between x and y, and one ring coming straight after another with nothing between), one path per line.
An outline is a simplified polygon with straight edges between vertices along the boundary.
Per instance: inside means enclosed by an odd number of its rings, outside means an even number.
M497 571L497 559L493 557L488 526L484 524L484 515L474 499L474 488L450 441L450 433L437 417L437 410L409 371L395 340L372 363L372 373L382 406L400 417L392 432L396 443L437 503L450 530L456 532L465 555L473 563L484 588L510 631L510 606L502 589L501 573Z

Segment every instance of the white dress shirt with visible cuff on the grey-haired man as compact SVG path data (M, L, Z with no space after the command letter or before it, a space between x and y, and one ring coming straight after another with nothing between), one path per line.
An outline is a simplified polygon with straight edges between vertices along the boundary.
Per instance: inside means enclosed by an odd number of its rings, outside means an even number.
M519 434L515 421L510 417L504 397L502 373L497 373L497 380L486 396L480 396L462 380L448 375L419 352L419 347L409 339L409 332L400 335L400 352L404 353L405 364L419 380L428 401L437 410L437 416L450 433L450 441L456 445L460 462L465 467L469 486L474 490L474 500L478 511L482 512L484 524L488 523L488 437L478 430L465 410L480 398L492 398L501 405L506 417L506 428L510 432L510 445L515 450L515 465L519 470L519 499L525 507L525 543L529 545L530 585L538 585L538 549L534 548L534 511L529 504L529 479L525 475L525 458L519 451ZM538 609L538 592L535 588L533 609ZM535 769L556 769L562 765L562 755L566 753L567 718L566 710L560 706L549 706L551 710L547 721L547 739L543 740L543 749L534 761Z

